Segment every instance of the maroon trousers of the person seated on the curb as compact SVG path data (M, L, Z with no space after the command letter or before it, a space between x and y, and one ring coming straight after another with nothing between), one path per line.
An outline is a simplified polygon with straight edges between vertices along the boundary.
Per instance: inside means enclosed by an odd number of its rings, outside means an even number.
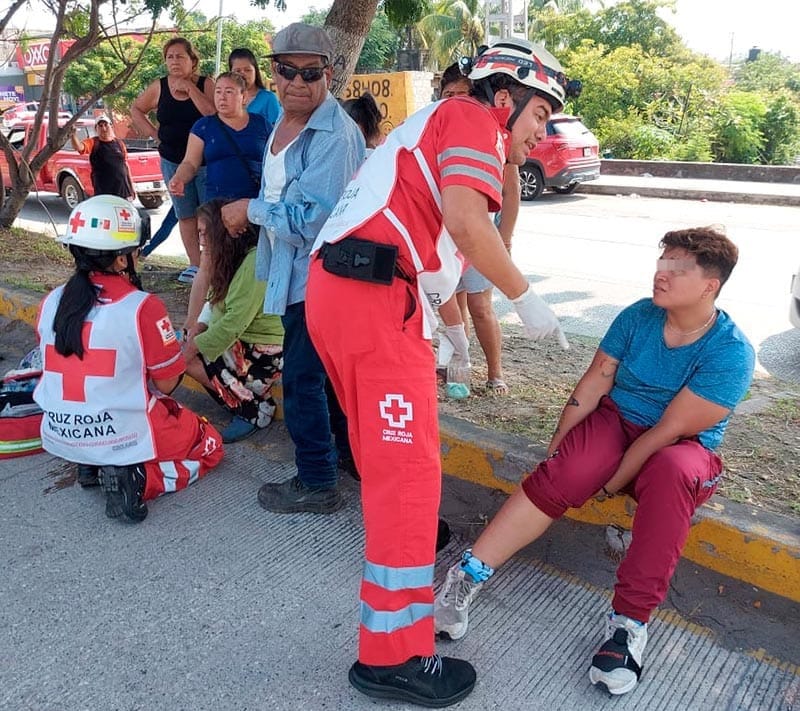
M625 420L609 397L573 427L557 453L539 464L522 488L538 509L559 518L608 483L625 450L648 428ZM638 503L633 541L617 569L612 606L647 622L666 597L695 509L716 491L722 460L696 440L664 447L625 487Z

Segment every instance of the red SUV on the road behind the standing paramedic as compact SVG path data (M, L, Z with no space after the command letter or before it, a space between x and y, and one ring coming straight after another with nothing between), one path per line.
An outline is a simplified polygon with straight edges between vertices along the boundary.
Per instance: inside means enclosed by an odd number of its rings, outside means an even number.
M523 200L535 200L545 188L571 193L580 183L600 177L599 144L577 116L553 114L547 136L519 169Z

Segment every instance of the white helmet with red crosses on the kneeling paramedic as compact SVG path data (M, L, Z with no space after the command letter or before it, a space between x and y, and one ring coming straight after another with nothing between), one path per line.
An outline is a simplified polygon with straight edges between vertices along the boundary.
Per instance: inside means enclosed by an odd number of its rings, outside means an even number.
M139 248L143 236L139 211L128 200L116 195L95 195L75 206L59 242L97 252L127 254Z

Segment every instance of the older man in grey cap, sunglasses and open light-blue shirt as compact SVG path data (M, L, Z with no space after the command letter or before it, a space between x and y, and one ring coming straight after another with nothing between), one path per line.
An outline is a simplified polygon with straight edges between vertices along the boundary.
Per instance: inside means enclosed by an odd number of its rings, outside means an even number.
M325 30L296 22L272 43L272 75L283 115L264 155L257 198L222 208L225 226L242 233L260 226L256 275L267 282L265 313L282 317L285 330L283 408L295 446L297 474L264 484L258 500L267 511L331 513L341 507L337 449L349 455L339 411L331 444L327 377L306 327L305 298L311 245L350 178L364 160L358 126L328 91L333 45Z

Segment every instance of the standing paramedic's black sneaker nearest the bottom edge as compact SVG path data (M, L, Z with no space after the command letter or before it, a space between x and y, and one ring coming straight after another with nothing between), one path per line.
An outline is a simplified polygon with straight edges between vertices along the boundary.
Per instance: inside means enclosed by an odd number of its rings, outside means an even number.
M391 667L356 662L350 667L350 683L362 694L377 699L396 699L428 708L458 703L475 686L475 669L452 657L411 657Z

